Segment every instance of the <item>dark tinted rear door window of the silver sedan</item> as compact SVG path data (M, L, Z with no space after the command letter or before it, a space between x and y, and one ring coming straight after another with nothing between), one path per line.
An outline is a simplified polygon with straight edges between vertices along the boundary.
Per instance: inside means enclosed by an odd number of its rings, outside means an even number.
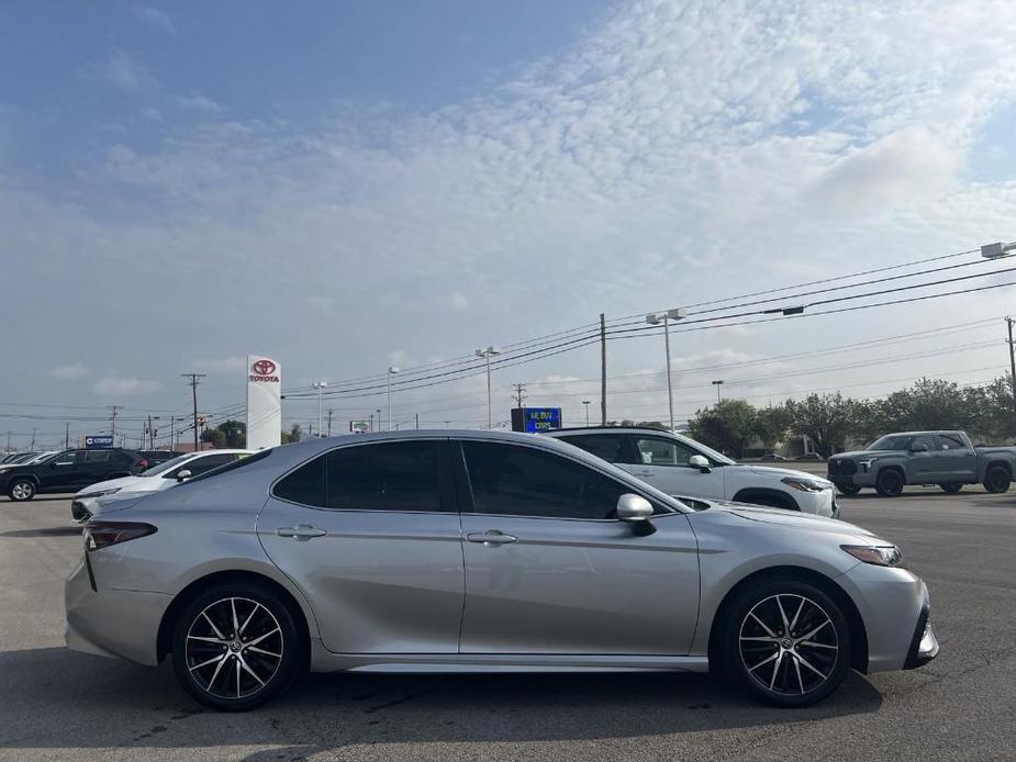
M438 442L391 441L327 455L326 505L339 511L440 511Z

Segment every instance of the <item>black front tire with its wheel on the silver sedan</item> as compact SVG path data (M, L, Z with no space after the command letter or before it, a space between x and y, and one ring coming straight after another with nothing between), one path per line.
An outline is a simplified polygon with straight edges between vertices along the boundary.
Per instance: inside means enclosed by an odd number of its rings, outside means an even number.
M780 605L793 626L790 638ZM793 578L763 580L737 593L725 610L723 665L749 694L777 706L803 707L820 702L844 682L850 669L850 628L839 605L820 589ZM773 625L771 642L751 615L766 627ZM810 640L801 639L807 635Z

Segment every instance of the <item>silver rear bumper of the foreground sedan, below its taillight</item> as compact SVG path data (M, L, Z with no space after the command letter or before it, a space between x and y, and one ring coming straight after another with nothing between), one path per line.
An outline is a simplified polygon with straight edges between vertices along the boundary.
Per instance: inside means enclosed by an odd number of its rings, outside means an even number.
M171 596L164 593L92 589L82 559L64 585L67 647L138 664L158 664L156 641Z

